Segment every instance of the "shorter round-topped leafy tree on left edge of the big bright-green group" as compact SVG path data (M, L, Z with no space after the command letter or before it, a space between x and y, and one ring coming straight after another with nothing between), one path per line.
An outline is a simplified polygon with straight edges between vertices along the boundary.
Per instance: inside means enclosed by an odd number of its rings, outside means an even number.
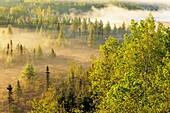
M91 99L95 109L100 109L100 103L106 92L112 86L111 79L114 74L115 57L114 53L118 51L119 42L113 37L109 37L105 44L100 46L101 57L94 61L89 69L91 81Z

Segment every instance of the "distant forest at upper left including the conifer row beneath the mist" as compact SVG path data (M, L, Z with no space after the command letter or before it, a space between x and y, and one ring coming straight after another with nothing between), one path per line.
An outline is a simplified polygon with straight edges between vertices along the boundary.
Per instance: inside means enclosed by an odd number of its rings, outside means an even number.
M9 2L9 4L12 1ZM106 26L102 20L92 22L89 18L70 17L67 14L86 12L91 7L105 7L102 4L90 4L85 2L17 2L11 5L0 6L0 24L12 25L20 28L30 28L39 30L60 31L62 28L66 34L72 32L73 36L82 36L90 34L93 24L93 33L102 35L104 38L109 35L115 37L123 37L129 31L128 26L122 23L122 26L110 25ZM66 14L66 15L64 15ZM111 29L113 28L114 29ZM101 37L101 36L96 36Z

